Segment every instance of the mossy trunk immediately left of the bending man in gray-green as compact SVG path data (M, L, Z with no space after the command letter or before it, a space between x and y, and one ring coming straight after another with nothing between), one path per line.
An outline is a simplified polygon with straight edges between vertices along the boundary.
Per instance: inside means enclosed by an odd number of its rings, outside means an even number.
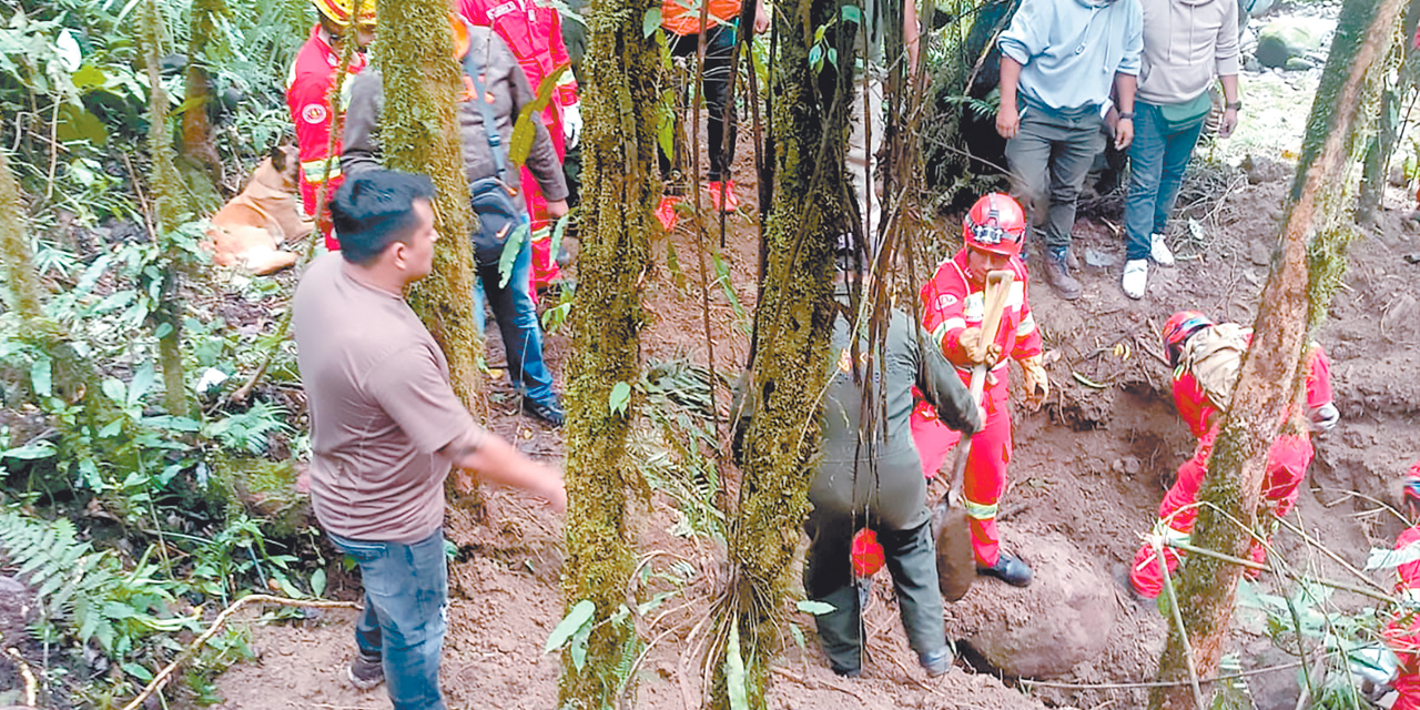
M765 222L763 297L755 308L746 396L754 416L743 433L738 510L730 527L730 581L717 613L713 704L730 707L731 676L750 707L764 707L770 663L784 632L784 604L795 577L799 528L808 513L811 462L818 453L821 399L828 382L834 322L834 248L852 230L845 170L853 80L853 31L825 33L811 62L815 31L841 14L834 0L797 0L774 13L778 57L771 58L774 186ZM835 23L843 27L845 23ZM738 653L736 653L738 652ZM738 657L737 657L738 656Z

